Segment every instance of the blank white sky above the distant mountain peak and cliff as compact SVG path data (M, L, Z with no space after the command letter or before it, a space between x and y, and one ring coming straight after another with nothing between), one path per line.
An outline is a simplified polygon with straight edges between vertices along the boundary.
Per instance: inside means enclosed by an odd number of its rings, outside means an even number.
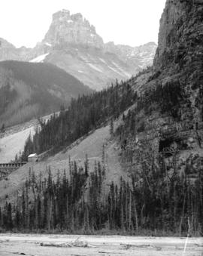
M138 46L157 42L166 0L0 0L0 37L34 47L49 29L52 14L80 12L104 42Z

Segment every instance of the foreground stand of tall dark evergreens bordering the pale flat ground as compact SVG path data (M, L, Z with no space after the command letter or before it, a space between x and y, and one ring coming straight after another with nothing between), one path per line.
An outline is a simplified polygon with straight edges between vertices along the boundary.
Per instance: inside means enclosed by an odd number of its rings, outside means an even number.
M68 171L47 178L29 177L13 204L0 208L2 230L67 233L129 233L154 235L202 235L203 180L195 183L186 176L171 180L162 168L143 170L122 178L120 184L109 184L105 164L95 162L89 170L86 157L83 166L69 159ZM116 170L115 170L116 171Z

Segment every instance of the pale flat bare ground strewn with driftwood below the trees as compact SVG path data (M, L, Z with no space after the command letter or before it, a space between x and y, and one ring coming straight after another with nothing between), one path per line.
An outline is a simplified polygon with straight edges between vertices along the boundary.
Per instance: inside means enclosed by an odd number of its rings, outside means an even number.
M185 243L185 238L1 234L0 255L203 256L203 238L189 238L183 253Z

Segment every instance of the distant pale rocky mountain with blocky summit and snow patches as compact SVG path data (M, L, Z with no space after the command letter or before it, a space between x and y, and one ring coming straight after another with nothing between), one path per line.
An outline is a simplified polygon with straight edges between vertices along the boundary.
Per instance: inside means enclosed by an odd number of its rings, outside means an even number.
M129 79L150 66L155 51L155 43L135 48L114 42L105 44L82 14L62 10L53 14L50 28L35 48L17 49L3 44L0 60L53 63L85 85L101 90L116 79Z

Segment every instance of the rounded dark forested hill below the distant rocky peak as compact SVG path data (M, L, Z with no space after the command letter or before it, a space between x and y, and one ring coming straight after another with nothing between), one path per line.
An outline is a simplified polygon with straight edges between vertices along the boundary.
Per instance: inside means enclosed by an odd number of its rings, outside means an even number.
M92 90L46 63L0 62L0 124L15 125L53 113Z

